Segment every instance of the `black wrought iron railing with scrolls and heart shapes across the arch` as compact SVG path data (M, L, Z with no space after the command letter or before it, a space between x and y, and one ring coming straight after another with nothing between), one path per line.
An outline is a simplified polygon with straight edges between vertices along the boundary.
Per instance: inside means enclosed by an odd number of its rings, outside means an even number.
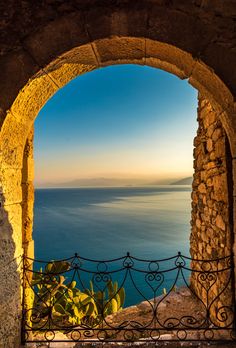
M22 342L235 340L233 275L231 256L24 258Z

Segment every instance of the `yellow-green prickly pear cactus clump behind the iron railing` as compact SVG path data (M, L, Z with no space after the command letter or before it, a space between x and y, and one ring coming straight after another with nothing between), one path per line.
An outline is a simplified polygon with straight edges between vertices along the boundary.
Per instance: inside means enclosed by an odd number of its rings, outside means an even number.
M36 287L35 308L41 317L51 316L53 319L72 325L90 323L97 325L107 315L119 311L125 300L124 288L118 283L108 281L104 291L94 291L93 282L90 288L81 291L76 281L66 283L62 273L70 269L67 261L51 261L44 271L35 272L32 285Z

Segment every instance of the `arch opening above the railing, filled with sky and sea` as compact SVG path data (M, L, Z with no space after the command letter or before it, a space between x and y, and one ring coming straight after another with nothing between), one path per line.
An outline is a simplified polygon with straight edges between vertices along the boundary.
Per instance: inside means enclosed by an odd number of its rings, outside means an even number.
M35 257L189 255L196 118L196 91L154 68L60 90L35 124Z

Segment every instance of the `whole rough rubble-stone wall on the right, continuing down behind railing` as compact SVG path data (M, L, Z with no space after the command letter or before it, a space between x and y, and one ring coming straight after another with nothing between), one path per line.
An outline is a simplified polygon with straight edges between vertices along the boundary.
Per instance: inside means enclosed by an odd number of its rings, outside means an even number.
M227 136L220 122L220 115L201 96L198 104L198 131L194 139L194 178L192 190L191 256L198 260L214 260L232 254L232 173L231 155ZM198 272L191 276L194 291L209 307L210 315L221 323L224 310L232 319L233 299L229 259L221 261L192 262ZM199 271L212 271L210 274ZM230 280L230 285L228 281ZM222 290L227 287L227 290ZM212 303L212 305L210 305Z

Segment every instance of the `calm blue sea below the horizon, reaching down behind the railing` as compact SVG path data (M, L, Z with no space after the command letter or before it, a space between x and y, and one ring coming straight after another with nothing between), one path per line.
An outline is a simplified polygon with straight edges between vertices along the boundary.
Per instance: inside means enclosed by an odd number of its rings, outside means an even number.
M80 272L68 276L101 290L109 273L130 306L184 285L175 262L189 256L190 218L187 185L36 189L35 259L77 253Z

